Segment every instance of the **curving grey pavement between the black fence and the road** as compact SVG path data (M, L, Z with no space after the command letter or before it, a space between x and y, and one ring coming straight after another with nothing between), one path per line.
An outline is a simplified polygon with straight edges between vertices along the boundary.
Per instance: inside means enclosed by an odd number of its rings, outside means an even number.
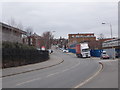
M64 61L63 59L51 54L50 59L45 62L2 69L2 74L1 74L2 76L0 75L0 77L13 76L17 74L22 74L22 73L27 73L27 72L31 72L35 70L52 67L52 66L62 63L63 61Z

